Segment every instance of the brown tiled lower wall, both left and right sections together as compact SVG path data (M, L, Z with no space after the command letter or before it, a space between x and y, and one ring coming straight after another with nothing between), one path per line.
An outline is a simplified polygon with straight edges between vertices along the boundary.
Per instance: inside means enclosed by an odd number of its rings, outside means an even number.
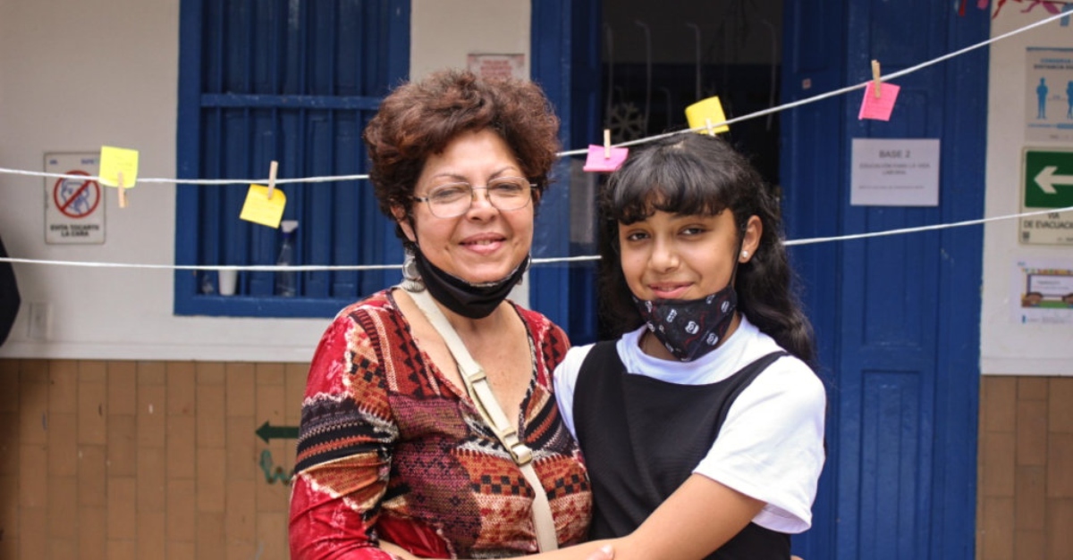
M0 359L0 559L285 559L305 364ZM976 558L1073 558L1073 378L981 382Z

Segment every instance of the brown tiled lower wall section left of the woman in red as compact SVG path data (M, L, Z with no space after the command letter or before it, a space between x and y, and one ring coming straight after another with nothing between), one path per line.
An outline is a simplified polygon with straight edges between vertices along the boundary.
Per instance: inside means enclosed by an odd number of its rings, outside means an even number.
M0 359L0 559L285 559L307 366Z

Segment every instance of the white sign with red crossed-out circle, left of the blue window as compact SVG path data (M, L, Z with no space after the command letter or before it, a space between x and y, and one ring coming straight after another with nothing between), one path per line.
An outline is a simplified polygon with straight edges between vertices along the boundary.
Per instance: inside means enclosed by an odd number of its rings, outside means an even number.
M104 192L90 177L100 174L100 153L46 153L45 172L74 177L45 178L45 241L103 244Z

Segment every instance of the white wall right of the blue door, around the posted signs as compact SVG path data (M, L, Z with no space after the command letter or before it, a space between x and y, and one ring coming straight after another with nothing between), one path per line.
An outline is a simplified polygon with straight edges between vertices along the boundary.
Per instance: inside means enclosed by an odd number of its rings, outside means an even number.
M1021 13L1006 4L991 23L991 36L1043 19L1044 10ZM1028 142L1025 134L1027 47L1073 47L1073 28L1058 21L991 45L987 121L986 216L1020 211L1021 151L1069 144ZM1059 89L1060 86L1053 86ZM1052 110L1057 107L1053 107ZM1013 270L1018 259L1073 263L1073 247L1024 246L1017 221L993 222L984 230L984 282L981 321L981 371L991 374L1073 374L1073 325L1020 324L1013 319ZM968 325L967 325L968 326Z

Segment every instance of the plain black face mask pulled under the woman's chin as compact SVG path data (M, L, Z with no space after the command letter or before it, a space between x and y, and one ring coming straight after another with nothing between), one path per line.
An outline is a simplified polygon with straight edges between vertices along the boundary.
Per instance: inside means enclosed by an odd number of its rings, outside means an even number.
M413 264L421 281L437 301L459 315L484 319L502 304L511 290L521 281L529 269L529 255L506 278L496 282L471 284L461 278L444 272L429 263L421 250L413 253ZM406 274L406 267L403 267ZM414 279L408 278L409 281Z

